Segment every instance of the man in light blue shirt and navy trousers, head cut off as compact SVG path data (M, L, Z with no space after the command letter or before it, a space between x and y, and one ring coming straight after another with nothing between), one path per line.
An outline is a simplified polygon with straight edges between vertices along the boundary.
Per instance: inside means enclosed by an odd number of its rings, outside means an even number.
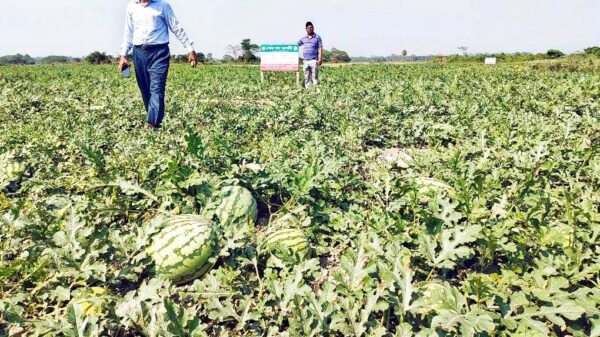
M169 72L169 30L188 51L192 66L197 58L190 40L164 0L133 0L127 5L125 34L119 70L129 67L127 54L133 47L135 77L148 113L148 127L159 128L165 111L165 89Z

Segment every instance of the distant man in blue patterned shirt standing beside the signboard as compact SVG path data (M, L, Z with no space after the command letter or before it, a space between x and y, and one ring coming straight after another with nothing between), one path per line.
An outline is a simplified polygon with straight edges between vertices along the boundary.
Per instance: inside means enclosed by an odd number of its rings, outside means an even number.
M323 41L315 33L312 22L306 23L306 36L298 41L304 46L304 85L310 88L319 84L319 66L323 64Z

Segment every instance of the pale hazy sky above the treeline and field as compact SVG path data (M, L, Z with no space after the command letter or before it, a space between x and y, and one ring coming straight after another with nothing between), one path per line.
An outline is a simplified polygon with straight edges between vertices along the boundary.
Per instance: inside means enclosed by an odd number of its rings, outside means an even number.
M0 55L117 55L128 0L2 0ZM598 0L170 0L197 51L295 43L310 20L351 56L575 52L600 45ZM171 52L185 49L171 35Z

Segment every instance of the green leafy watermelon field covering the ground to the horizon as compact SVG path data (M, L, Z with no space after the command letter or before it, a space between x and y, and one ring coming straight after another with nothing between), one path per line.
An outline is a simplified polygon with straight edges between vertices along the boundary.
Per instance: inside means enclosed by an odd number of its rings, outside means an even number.
M600 74L0 67L0 336L600 336Z

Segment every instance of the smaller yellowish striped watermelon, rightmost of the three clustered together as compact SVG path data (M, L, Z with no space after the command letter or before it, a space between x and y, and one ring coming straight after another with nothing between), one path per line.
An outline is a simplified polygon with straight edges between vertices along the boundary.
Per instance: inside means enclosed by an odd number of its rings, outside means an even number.
M310 244L304 232L293 227L267 229L262 238L262 246L276 257L289 260L290 253L304 258L310 252Z

